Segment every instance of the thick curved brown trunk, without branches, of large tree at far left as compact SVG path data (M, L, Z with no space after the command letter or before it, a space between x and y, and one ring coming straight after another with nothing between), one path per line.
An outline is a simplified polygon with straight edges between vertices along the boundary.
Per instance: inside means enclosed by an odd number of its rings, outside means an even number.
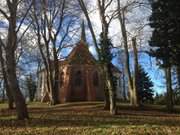
M28 111L25 103L25 99L20 91L17 76L16 76L16 59L15 51L17 48L17 33L16 33L16 12L17 1L9 3L10 19L8 28L8 38L6 44L6 67L7 67L7 80L9 89L13 95L13 99L16 105L17 118L28 118Z

